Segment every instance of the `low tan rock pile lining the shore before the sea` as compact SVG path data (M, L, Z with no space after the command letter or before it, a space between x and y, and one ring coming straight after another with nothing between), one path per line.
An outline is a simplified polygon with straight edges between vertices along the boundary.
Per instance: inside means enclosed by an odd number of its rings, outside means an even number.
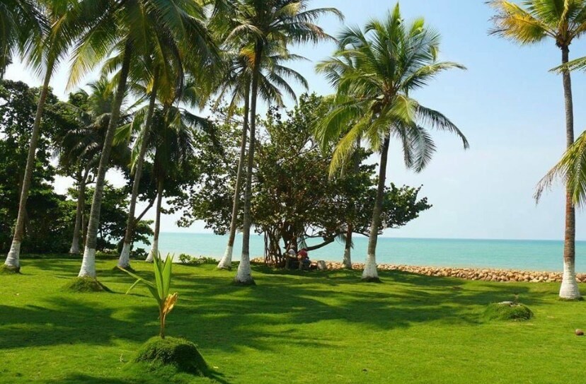
M262 264L263 258L258 257L251 260L253 263ZM316 264L316 262L314 262ZM341 262L326 261L328 270L343 269ZM352 264L353 269L364 269L364 264ZM526 281L531 283L561 282L560 272L530 272L514 269L492 269L492 268L450 268L450 267L418 267L413 265L379 264L379 270L398 270L413 274L423 274L435 277L458 277L468 280L483 281ZM577 274L578 283L586 283L586 274Z

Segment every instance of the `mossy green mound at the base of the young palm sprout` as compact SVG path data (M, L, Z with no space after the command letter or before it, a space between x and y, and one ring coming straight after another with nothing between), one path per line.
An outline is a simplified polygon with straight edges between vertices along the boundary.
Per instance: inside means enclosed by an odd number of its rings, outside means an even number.
M149 366L174 366L178 371L203 376L207 373L207 363L192 342L176 337L152 337L144 343L134 358L135 363L148 363Z

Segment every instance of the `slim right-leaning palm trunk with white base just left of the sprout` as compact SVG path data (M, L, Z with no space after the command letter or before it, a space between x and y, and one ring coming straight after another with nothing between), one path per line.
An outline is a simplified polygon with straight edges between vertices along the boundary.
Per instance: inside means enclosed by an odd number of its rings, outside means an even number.
M153 120L154 107L156 102L156 91L159 87L159 69L155 69L153 76L153 88L151 91L151 99L149 100L149 110L146 112L146 122L144 123L144 135L140 144L139 156L137 159L136 169L134 170L134 182L132 182L132 194L130 195L130 206L128 208L128 220L126 223L126 232L124 235L124 244L122 245L122 252L120 252L120 259L118 260L118 267L130 267L130 248L132 247L132 235L134 234L134 211L137 206L137 197L140 186L140 178L142 176L142 165L144 164L144 156L146 149L149 147L149 130L151 129L151 122Z

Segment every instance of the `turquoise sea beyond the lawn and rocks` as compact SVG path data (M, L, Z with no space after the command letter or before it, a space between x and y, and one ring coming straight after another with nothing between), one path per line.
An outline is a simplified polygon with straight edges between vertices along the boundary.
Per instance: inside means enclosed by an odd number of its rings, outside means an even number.
M352 262L364 262L368 239L355 236ZM219 259L227 236L209 233L161 233L162 255L186 253ZM318 242L315 242L318 243ZM309 245L313 243L308 241ZM144 245L138 245L144 247ZM236 235L234 260L240 259L242 236ZM251 236L251 257L263 255L263 237ZM341 261L343 243L334 242L309 253L312 260ZM377 262L435 267L486 267L561 272L563 242L558 240L472 240L379 238ZM576 270L586 272L586 241L576 242Z

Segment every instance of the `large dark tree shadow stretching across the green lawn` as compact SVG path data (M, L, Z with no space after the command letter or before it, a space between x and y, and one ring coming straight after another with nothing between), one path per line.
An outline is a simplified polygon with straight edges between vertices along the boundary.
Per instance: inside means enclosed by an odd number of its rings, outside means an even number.
M67 277L77 268L55 260L35 261L41 268L45 263ZM309 325L332 322L323 326L339 327L340 332L347 332L352 325L360 325L363 332L433 321L477 325L488 303L511 300L515 294L530 307L541 303L524 285L490 284L487 288L482 283L398 271L381 271L383 284L367 284L359 282L357 271L307 273L255 266L255 272L263 272L256 275L258 286L242 288L229 284L234 271L210 272L213 267L205 268L205 276L195 269L174 274L173 290L179 292L179 301L168 318L173 336L197 342L202 351L242 347L277 351L285 343L336 348L336 340ZM129 286L132 282L132 278L111 271L100 273L100 279L107 285L108 281L128 281ZM116 338L143 342L157 332L156 308L151 298L146 298L146 291L135 294L142 296L139 303L137 296L120 295L115 301L103 302L93 298L96 296L87 301L82 298L86 296L70 295L48 299L47 308L0 305L0 349L108 345ZM125 313L115 315L118 311ZM100 380L96 383L132 383ZM71 383L79 382L91 381L71 379Z

